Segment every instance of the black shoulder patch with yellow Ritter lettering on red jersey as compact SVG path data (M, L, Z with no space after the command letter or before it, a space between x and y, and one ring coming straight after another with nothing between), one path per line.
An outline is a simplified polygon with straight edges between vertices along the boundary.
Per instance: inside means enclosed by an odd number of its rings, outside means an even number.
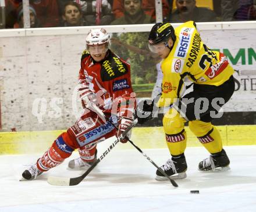
M128 71L127 64L114 53L110 53L101 64L101 79L110 81L125 75Z

